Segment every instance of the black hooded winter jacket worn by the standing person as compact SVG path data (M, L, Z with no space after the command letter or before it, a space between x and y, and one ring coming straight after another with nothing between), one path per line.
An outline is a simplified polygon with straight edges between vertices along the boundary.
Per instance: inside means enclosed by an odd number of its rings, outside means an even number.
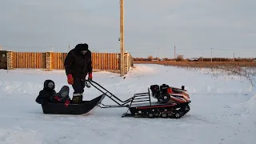
M66 75L72 74L73 77L85 78L87 74L92 73L91 52L86 49L86 54L82 54L81 48L76 46L66 55L64 62Z

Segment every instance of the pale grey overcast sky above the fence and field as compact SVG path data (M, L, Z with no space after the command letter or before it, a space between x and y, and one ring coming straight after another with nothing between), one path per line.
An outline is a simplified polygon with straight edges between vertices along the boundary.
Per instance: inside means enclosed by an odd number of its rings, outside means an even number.
M134 57L256 57L255 0L125 0ZM0 45L14 51L119 52L119 0L1 0ZM53 47L53 48L52 48ZM206 50L202 50L206 49ZM222 49L222 50L218 50ZM242 52L241 50L246 50Z

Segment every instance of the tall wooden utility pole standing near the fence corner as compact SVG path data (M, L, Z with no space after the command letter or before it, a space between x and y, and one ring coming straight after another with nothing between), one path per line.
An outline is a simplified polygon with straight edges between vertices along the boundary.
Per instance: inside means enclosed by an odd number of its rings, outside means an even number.
M120 76L124 76L124 2L120 0Z

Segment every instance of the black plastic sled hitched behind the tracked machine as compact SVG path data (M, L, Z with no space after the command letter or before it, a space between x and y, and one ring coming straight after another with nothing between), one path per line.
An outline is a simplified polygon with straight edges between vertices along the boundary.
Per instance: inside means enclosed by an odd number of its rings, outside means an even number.
M42 105L43 114L86 114L93 110L102 101L105 95L100 95L90 101L83 101L79 104L70 103L65 107L63 103L48 103Z

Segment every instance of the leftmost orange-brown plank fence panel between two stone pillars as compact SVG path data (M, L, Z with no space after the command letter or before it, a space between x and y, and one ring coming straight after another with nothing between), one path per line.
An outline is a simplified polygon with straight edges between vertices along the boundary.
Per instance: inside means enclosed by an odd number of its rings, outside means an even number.
M46 69L46 53L14 52L14 68Z

